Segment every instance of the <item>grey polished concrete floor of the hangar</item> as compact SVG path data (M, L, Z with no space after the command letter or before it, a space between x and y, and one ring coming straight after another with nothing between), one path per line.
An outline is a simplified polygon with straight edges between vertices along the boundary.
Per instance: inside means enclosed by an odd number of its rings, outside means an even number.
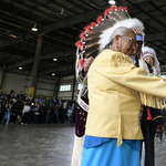
M74 125L0 125L0 166L70 166ZM156 166L166 166L166 142L155 141Z

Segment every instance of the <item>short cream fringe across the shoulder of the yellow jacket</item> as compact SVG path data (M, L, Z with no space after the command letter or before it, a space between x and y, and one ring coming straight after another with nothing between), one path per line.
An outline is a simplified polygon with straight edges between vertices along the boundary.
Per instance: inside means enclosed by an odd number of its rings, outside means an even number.
M117 65L121 63L133 63L132 59L128 55L125 55L121 52L114 53L111 56L111 65Z

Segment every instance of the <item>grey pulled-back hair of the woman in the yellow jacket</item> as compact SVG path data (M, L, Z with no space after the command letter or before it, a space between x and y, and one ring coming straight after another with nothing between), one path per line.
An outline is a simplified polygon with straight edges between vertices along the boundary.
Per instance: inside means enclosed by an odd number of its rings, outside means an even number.
M115 37L118 35L125 35L127 32L133 32L132 29L126 27L118 27L115 29L111 35L111 41L105 45L104 49L110 49L110 46L113 44Z

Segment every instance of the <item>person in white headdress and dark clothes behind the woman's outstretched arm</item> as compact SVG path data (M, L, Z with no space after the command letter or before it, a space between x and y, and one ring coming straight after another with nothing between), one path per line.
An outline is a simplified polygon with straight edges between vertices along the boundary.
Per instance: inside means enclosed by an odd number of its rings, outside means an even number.
M149 75L160 75L159 62L156 56L156 52L154 49L149 46L142 48L141 59L143 59L149 69ZM154 138L155 133L164 132L164 122L162 117L160 110L144 106L143 117L142 117L142 131L144 135L145 146L143 146L143 151L145 147L145 159L142 158L143 166L155 166L155 153L154 153ZM158 134L160 135L160 134Z

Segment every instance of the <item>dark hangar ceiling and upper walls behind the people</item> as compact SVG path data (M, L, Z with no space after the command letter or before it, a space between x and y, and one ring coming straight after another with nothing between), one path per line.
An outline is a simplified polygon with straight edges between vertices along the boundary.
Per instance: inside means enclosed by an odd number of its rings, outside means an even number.
M7 86L9 77L19 74L18 77L27 80L23 83L23 91L28 93L38 56L37 82L38 84L49 82L51 87L46 90L43 85L37 85L37 93L45 91L45 95L63 96L68 100L69 95L73 95L71 98L76 98L75 42L84 27L95 21L97 15L110 7L108 0L1 0L0 2L1 87L9 92ZM166 75L166 1L116 0L116 6L127 7L132 18L143 21L145 44L156 51L162 75ZM38 31L32 31L32 28L38 28ZM14 85L18 84L17 81L13 81ZM72 92L59 93L61 84L71 84Z

